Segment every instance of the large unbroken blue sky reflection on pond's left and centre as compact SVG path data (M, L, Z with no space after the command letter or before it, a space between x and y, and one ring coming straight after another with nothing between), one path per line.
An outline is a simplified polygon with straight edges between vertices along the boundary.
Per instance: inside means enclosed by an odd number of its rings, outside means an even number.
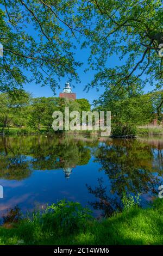
M99 177L106 178L104 172L98 172L98 168L99 165L91 159L86 166L73 168L69 179L65 178L62 169L34 170L29 178L21 181L1 179L0 184L4 187L1 214L15 205L25 212L38 204L51 204L63 198L86 205L94 197L87 192L85 184L95 186Z

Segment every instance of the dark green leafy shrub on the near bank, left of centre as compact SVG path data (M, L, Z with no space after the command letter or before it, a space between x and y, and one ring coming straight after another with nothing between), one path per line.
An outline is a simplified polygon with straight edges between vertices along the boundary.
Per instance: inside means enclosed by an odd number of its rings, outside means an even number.
M39 240L41 236L58 236L74 234L79 230L84 230L87 221L91 220L91 210L83 208L78 202L68 202L61 200L47 206L46 209L28 215L22 221L19 229L24 233L24 239L28 241Z

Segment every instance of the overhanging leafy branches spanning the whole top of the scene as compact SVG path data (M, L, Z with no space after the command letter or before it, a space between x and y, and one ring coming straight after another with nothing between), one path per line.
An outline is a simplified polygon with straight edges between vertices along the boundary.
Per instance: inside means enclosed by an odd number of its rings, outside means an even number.
M0 0L0 4L2 92L32 80L55 91L62 76L78 80L81 63L74 59L78 39L82 47L90 48L89 68L95 71L87 89L111 88L114 97L122 87L130 91L135 84L161 88L161 0ZM119 60L112 66L115 54Z

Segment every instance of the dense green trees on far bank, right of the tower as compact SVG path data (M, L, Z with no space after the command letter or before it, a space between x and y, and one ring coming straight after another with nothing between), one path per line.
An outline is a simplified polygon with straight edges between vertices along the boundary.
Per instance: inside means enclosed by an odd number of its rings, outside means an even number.
M162 121L162 90L143 94L141 88L133 86L128 91L121 88L115 97L112 86L94 101L95 109L111 111L111 131L114 135L136 133L136 126L150 124L153 119Z

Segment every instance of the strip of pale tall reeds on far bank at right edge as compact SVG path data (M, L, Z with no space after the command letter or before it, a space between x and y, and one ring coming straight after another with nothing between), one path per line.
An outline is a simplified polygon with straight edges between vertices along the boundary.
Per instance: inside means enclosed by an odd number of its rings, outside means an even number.
M139 135L163 135L163 127L161 125L140 126L137 128L137 133Z

